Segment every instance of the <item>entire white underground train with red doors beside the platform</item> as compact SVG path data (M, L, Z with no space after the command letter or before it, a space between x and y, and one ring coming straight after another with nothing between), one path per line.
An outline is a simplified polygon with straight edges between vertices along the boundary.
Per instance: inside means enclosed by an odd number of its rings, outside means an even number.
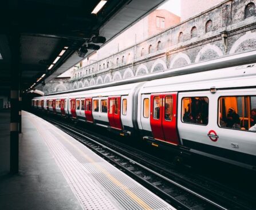
M256 64L35 97L34 109L256 168Z

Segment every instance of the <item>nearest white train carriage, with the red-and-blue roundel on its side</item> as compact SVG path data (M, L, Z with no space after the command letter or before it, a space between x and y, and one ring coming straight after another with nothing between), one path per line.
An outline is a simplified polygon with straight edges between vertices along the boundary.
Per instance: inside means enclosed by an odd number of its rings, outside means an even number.
M138 124L153 145L255 168L256 65L219 69L145 83L139 92ZM232 113L231 113L232 112ZM237 118L231 120L230 116Z

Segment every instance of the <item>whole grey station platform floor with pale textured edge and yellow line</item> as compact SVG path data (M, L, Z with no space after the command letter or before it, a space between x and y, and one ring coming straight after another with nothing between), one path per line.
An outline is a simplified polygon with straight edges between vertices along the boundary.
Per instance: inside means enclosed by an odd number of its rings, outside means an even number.
M19 175L1 176L0 209L174 209L49 122L22 112Z

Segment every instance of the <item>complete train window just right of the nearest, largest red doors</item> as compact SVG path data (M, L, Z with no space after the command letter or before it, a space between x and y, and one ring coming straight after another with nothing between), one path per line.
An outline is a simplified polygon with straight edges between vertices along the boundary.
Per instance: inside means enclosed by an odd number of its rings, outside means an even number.
M207 97L182 98L182 121L187 123L208 124L209 99Z

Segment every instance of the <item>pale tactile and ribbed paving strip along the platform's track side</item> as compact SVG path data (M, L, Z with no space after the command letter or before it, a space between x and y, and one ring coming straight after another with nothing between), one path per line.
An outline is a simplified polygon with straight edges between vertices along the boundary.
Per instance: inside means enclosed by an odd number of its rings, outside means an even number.
M68 134L33 119L85 209L174 209Z

